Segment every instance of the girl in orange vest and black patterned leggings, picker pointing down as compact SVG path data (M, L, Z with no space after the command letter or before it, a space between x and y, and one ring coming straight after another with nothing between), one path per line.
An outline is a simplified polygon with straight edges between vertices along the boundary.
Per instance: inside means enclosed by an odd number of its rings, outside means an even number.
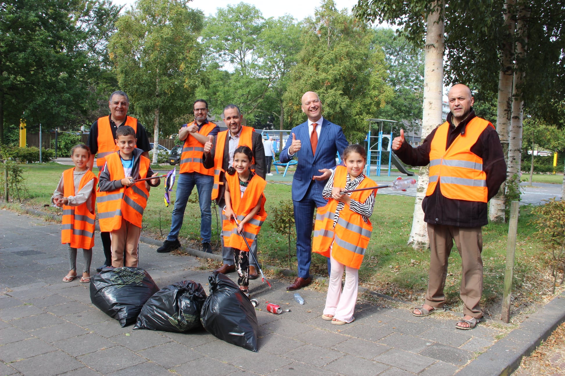
M253 152L247 146L238 147L233 153L233 167L225 175L225 207L223 213L224 246L232 247L236 260L237 284L249 297L249 246L257 239L263 224L267 182L249 169ZM233 220L237 218L237 222Z

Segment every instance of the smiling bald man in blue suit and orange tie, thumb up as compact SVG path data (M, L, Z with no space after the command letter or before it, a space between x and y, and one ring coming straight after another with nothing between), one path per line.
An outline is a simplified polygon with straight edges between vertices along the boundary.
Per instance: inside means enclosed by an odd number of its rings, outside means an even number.
M292 201L296 225L296 258L298 277L286 290L298 290L312 281L310 261L312 251L312 220L316 207L324 206L321 195L326 180L336 167L336 153L340 156L347 147L341 127L321 116L318 94L308 91L302 96L302 112L308 120L292 129L292 137L286 141L280 153L282 163L298 158L292 180Z

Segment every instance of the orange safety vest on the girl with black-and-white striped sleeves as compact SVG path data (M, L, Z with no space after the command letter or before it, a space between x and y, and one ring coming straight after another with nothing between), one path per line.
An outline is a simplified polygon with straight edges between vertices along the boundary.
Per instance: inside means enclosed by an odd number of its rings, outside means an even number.
M346 167L337 166L333 175L333 186L345 188L346 182ZM368 188L375 185L376 183L373 180L364 178L357 188ZM367 189L367 191L351 192L350 197L351 200L365 202L376 191L376 189ZM318 208L314 224L312 252L329 257L330 248L332 248L331 254L337 262L359 269L365 250L369 245L373 225L370 220L365 223L362 215L351 211L349 205L345 204L344 209L340 211L340 218L337 220L336 227L333 228L333 217L338 203L339 201L330 198L328 204Z

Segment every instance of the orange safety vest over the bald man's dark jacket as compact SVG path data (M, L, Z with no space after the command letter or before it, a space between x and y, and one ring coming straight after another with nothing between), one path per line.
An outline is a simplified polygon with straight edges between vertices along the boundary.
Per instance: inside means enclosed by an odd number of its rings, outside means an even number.
M465 201L488 201L483 158L471 152L486 127L494 126L480 117L472 118L464 135L457 135L449 148L449 123L440 125L433 136L429 151L429 183L425 192L430 196L440 183L440 191L447 198Z

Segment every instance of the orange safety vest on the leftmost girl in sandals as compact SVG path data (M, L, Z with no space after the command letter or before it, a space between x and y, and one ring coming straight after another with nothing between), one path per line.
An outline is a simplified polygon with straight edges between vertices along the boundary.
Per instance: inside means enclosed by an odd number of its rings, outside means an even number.
M75 179L72 169L63 172L63 195L64 197L75 196ZM98 178L92 171L86 171L79 183L79 191L94 179L94 187ZM94 189L93 189L94 191ZM95 200L95 194L93 199ZM94 202L93 202L94 203ZM94 209L88 210L86 202L79 206L63 205L63 229L61 231L61 243L70 244L73 248L91 249L94 246Z

